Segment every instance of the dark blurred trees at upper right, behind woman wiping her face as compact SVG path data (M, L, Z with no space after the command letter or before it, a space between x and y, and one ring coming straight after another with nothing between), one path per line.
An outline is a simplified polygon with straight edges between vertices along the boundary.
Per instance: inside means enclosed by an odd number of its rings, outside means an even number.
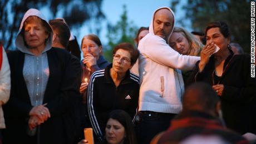
M171 4L177 6L177 2L180 1L174 0ZM191 20L193 31L204 32L209 22L224 21L232 34L231 40L238 42L245 52L250 52L250 1L188 0L183 9L186 18Z

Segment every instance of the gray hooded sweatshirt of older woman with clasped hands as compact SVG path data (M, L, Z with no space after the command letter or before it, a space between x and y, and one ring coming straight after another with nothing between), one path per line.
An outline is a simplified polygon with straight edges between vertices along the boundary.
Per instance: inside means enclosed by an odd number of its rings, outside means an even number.
M43 96L45 95L46 85L48 82L48 77L50 75L46 52L52 47L53 31L51 29L50 37L46 41L45 49L43 50L43 52L39 56L35 56L35 54L28 51L28 48L25 45L24 39L21 34L23 24L29 16L37 16L41 18L49 25L49 27L50 24L47 22L47 19L45 18L45 16L43 16L43 14L40 11L31 8L24 14L15 41L18 50L25 53L23 77L26 82L31 104L32 106L38 106L42 105Z

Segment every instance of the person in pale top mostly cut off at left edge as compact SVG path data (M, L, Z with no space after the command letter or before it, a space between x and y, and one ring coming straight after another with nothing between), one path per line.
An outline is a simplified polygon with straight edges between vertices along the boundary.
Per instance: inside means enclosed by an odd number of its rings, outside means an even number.
M2 130L6 128L2 106L7 103L11 90L11 72L6 51L0 42L0 143L2 143Z

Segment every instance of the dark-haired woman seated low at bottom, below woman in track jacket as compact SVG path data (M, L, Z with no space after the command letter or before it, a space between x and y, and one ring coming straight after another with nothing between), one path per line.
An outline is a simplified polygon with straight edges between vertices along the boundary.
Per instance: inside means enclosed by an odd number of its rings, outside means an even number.
M86 144L87 140L81 140L78 144ZM136 135L131 117L123 110L110 112L105 127L105 139L102 143L108 144L136 144Z

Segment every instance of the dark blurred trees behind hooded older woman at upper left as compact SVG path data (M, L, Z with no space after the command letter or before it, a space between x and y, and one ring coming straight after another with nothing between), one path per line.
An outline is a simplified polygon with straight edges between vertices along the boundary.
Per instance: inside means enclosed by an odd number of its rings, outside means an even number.
M79 27L89 19L105 18L101 11L102 0L1 0L0 1L0 40L4 48L14 47L14 38L24 13L29 8L47 8L51 18L55 18L59 11L68 25ZM97 27L100 28L100 27ZM99 31L99 29L97 29Z

